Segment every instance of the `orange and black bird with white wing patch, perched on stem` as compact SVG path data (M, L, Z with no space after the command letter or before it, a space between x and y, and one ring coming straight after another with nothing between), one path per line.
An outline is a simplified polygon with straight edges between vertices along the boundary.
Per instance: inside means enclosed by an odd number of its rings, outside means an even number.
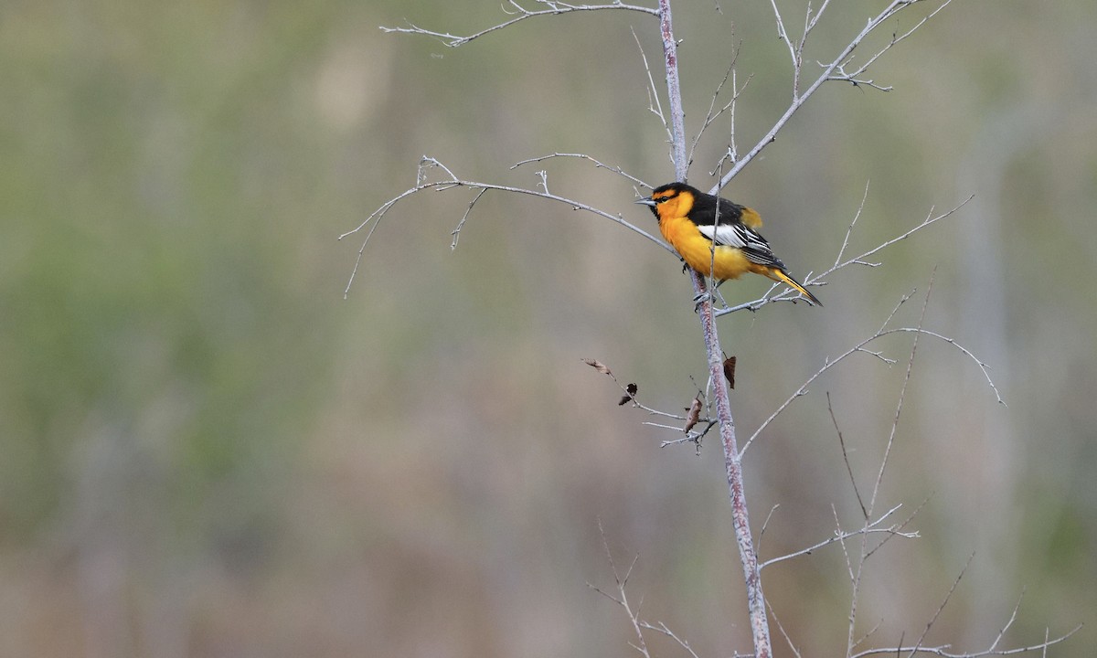
M668 183L636 203L651 206L659 232L690 268L720 282L754 272L783 283L823 306L789 274L758 228L758 213L726 198L705 194L686 183Z

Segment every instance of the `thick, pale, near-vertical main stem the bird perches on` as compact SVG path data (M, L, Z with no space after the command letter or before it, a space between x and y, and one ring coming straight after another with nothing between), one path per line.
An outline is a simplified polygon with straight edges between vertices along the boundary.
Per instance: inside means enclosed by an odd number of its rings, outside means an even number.
M678 44L675 42L670 20L670 0L659 0L659 29L663 36L663 54L667 68L667 94L670 104L670 154L675 163L675 177L679 181L685 181L689 160L686 156L686 118L682 110L681 82L678 77ZM755 658L770 658L773 650L769 637L769 621L766 616L766 598L762 594L761 579L758 572L758 554L750 536L750 519L747 513L746 494L743 486L743 464L739 461L738 445L735 441L735 421L732 417L727 381L724 378L723 350L720 349L712 298L711 295L706 294L704 277L692 270L690 273L693 291L702 298L699 309L701 332L704 336L709 359L709 378L712 382L713 396L716 401L720 440L724 446L724 466L727 470L727 489L732 500L732 523L735 527L735 541L738 544L739 558L743 563L754 655Z

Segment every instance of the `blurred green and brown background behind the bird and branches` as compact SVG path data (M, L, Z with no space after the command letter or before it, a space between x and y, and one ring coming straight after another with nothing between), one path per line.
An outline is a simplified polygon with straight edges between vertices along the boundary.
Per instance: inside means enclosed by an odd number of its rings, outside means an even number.
M840 4L806 61L880 8ZM781 7L796 32L802 3ZM769 3L675 10L691 133L742 44L745 151L789 101ZM504 18L491 1L0 5L0 655L635 655L587 587L613 586L599 523L619 567L638 555L645 619L701 656L749 650L719 442L660 449L675 434L580 361L651 406L689 402L704 355L672 257L500 194L451 252L472 195L426 193L386 216L342 298L360 236L336 237L425 154L524 186L542 166L510 166L552 151L672 178L630 32L657 66L649 16L530 21L459 49L378 30ZM871 645L917 637L974 553L930 644L985 648L1025 592L1010 646L1088 623L1049 655L1092 655L1095 22L1081 0L955 2L873 67L893 92L824 88L725 190L799 275L834 262L870 181L852 249L975 195L882 266L832 276L824 308L721 320L740 436L914 288L897 324L916 324L935 268L926 326L993 368L1008 408L954 348L918 347L880 509L929 500L923 538L869 563ZM727 131L706 133L695 184ZM655 230L624 179L543 168ZM824 394L867 488L909 345L877 345L893 367L846 362L750 449L756 536L780 506L764 557L825 538L835 513L857 522ZM805 656L841 655L837 547L764 581Z

